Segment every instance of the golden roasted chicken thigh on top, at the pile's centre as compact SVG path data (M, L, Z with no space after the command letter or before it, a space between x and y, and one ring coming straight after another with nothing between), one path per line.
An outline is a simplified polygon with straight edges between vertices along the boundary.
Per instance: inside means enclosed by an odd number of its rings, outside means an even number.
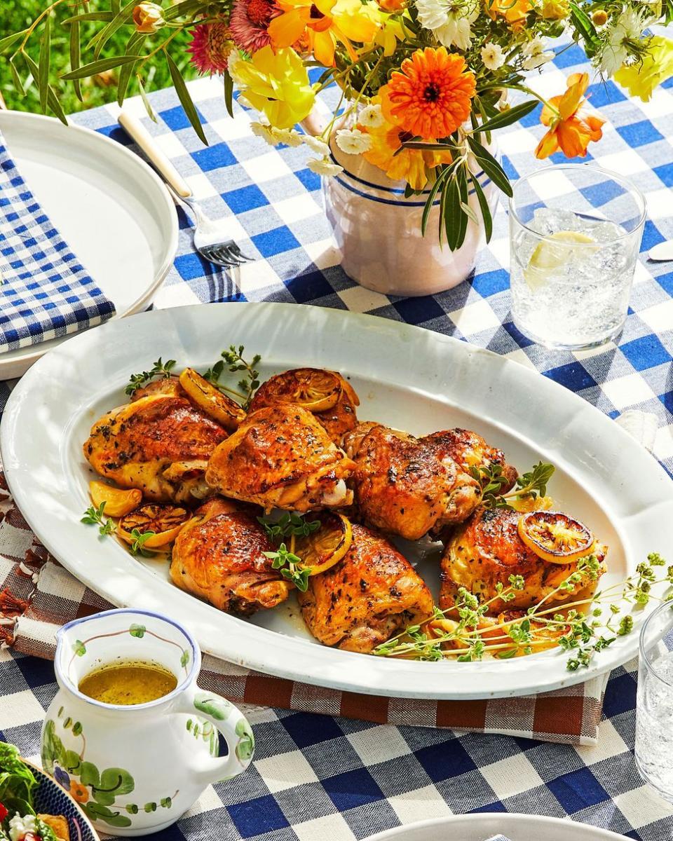
M310 511L350 505L353 463L314 415L276 404L247 415L211 456L206 482L262 508Z

